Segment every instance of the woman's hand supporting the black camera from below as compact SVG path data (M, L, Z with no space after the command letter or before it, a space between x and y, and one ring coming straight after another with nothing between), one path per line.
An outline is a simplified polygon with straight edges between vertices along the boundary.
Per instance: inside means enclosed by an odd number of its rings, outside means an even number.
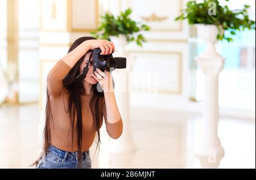
M107 70L105 70L105 72L102 72L100 69L97 68L93 74L93 78L100 83L105 93L114 91L112 74Z

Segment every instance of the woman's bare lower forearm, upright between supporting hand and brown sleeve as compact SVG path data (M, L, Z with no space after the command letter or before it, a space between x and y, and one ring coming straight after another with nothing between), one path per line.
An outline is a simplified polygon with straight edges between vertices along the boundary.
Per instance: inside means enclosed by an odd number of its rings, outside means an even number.
M114 92L106 92L104 93L104 97L106 103L107 120L109 123L117 123L118 120L121 119L121 115L117 107L117 102L115 101L115 94Z

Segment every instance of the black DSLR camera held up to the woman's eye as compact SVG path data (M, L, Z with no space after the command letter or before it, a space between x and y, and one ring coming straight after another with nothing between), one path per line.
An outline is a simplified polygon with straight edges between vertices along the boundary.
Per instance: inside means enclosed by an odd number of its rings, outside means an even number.
M100 55L101 49L93 49L93 71L100 69L102 72L108 70L110 72L114 69L125 69L126 58L125 57L113 57L110 55Z

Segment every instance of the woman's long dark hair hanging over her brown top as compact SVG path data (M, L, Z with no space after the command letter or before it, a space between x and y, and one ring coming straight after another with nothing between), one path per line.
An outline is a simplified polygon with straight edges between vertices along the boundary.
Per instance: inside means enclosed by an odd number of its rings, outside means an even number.
M96 39L94 37L80 37L77 39L69 48L68 53L73 51L77 46L79 46L82 42L90 39ZM89 51L92 52L92 51ZM89 53L87 52L87 53ZM85 54L86 55L86 54ZM67 90L69 94L68 98L68 110L65 110L69 113L69 119L71 121L71 129L72 129L72 146L73 146L73 131L74 131L74 124L76 120L76 128L77 128L77 149L79 154L79 164L81 164L81 146L82 146L82 110L81 110L81 95L85 95L85 88L82 83L82 81L73 81L77 76L80 74L80 65L82 63L82 60L84 59L84 56L82 56L79 61L73 66L73 68L68 72L67 76L63 79L63 86L65 90ZM97 141L97 148L100 150L100 112L102 112L102 109L99 108L99 104L102 101L102 98L104 98L104 93L99 92L97 90L97 83L95 85L92 85L93 90L93 97L90 101L90 111L92 111L93 115L93 122L94 126L97 129L97 135L98 135L98 141ZM93 108L94 107L94 108ZM94 111L93 111L94 109ZM49 101L49 93L47 89L47 103L46 103L46 124L44 126L43 131L43 152L47 153L48 148L50 145L50 137L51 137L51 129L50 129L50 123L52 120L52 113L51 113L51 103ZM95 154L94 154L95 155ZM33 165L36 165L38 161L36 161Z

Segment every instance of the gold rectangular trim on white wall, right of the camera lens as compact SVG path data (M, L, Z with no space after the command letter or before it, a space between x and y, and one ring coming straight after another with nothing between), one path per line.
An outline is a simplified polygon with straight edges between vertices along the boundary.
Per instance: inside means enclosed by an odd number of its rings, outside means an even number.
M179 91L167 91L167 90L158 90L158 93L163 93L163 94L181 94L183 89L182 89L182 82L183 82L183 54L182 52L179 51L139 51L139 50L129 50L127 51L127 53L149 53L149 54L157 54L157 53L161 53L161 54L166 54L166 55L178 55L179 56ZM136 90L136 89L135 89ZM149 89L149 92L155 92L154 89Z

